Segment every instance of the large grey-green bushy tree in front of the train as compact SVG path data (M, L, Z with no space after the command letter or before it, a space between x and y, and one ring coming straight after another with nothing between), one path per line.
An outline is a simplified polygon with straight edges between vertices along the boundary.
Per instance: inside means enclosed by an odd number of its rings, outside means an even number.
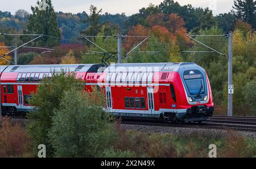
M104 94L93 89L64 92L49 132L56 157L100 157L117 137L107 114Z

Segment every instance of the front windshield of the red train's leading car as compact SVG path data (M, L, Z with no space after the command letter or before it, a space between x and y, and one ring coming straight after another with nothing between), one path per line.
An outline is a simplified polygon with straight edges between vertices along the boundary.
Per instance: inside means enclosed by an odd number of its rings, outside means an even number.
M185 71L184 79L191 95L204 94L203 74L198 71Z

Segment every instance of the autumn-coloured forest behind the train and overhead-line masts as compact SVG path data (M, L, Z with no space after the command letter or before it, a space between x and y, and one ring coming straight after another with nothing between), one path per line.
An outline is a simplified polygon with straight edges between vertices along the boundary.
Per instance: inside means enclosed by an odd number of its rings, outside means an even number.
M101 9L90 6L90 14L55 12L47 0L47 10L40 11L38 5L31 7L31 14L18 10L14 15L0 11L0 32L36 33L48 35L30 44L33 47L53 48L55 51L42 54L42 50L20 49L18 64L75 64L100 63L100 49L82 39L84 35L116 36L122 39L122 54L129 52L149 36L123 62L195 62L207 70L213 90L216 113L226 115L228 92L228 60L216 53L187 53L184 51L208 50L189 40L190 35L224 35L233 31L233 83L234 115L256 115L256 1L235 0L229 13L213 16L209 9L181 6L178 2L164 0L160 5L150 4L137 14L102 14ZM49 17L44 17L44 16ZM0 36L0 46L20 45L31 37ZM196 37L210 47L228 54L226 37ZM117 50L116 37L91 39L110 53ZM0 54L10 48L0 48ZM152 52L152 53L144 53ZM86 53L86 54L85 54ZM13 60L13 55L5 56ZM114 58L112 62L117 62ZM8 62L1 60L1 65Z

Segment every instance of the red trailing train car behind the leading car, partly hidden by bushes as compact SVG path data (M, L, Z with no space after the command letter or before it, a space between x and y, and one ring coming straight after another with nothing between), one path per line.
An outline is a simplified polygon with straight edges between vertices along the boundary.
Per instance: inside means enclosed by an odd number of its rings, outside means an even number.
M76 78L85 80L87 73L97 72L101 64L88 65L15 65L1 66L2 112L9 114L30 112L34 107L27 99L43 78L51 78L52 71L75 71Z

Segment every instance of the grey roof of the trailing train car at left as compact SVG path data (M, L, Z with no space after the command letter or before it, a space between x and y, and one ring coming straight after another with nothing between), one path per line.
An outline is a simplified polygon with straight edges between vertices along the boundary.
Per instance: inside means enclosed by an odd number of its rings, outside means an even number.
M61 71L76 71L76 72L97 72L102 64L74 64L74 65L11 65L6 66L5 72L51 72L52 70ZM2 71L2 66L1 66Z

